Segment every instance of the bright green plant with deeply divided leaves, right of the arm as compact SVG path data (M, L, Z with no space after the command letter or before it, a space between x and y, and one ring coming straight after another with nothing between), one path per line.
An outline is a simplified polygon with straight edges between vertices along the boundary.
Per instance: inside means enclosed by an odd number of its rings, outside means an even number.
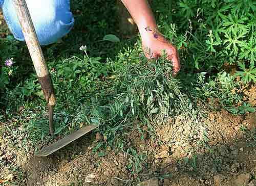
M228 62L250 66L242 81L255 82L255 1L154 1L153 8L161 32L180 48L186 70L210 72Z

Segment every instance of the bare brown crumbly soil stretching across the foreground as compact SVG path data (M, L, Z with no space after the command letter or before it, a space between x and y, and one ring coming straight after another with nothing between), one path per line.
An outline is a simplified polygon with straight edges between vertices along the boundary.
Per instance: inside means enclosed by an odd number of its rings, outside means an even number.
M245 90L250 102L255 101L254 90L253 86ZM124 148L146 154L140 172L129 167L133 155L119 148L94 151L104 142L99 134L83 137L47 158L34 157L33 150L25 154L0 139L0 159L24 173L18 185L256 185L252 138L256 113L234 116L225 110L211 111L198 125L178 117L151 135L146 126L141 132L137 125L124 130L122 137ZM208 139L204 144L203 138ZM10 174L1 168L0 180ZM13 181L19 179L15 173L12 176Z

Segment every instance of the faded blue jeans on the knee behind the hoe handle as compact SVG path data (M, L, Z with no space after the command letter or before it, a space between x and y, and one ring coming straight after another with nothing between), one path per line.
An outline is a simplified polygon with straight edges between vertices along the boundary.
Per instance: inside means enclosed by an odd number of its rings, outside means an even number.
M69 0L26 0L41 45L56 42L70 32L74 17ZM25 41L13 0L0 0L5 20L15 39Z

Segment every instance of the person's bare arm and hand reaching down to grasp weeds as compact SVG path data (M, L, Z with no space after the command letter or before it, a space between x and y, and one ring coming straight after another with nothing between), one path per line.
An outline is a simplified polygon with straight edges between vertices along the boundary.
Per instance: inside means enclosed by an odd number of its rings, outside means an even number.
M121 0L130 12L138 26L142 46L147 58L158 58L162 50L167 53L167 59L173 62L173 71L180 70L178 51L175 46L167 41L158 31L156 20L147 0Z

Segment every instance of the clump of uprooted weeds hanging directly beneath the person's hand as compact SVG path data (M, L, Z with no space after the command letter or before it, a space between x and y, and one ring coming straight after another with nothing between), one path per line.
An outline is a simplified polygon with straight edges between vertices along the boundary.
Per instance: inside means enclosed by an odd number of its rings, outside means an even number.
M118 98L130 104L133 115L154 122L157 114L155 122L160 124L168 115L187 113L188 97L180 91L180 82L172 76L172 65L164 57L152 62L142 59L116 72L122 92Z

